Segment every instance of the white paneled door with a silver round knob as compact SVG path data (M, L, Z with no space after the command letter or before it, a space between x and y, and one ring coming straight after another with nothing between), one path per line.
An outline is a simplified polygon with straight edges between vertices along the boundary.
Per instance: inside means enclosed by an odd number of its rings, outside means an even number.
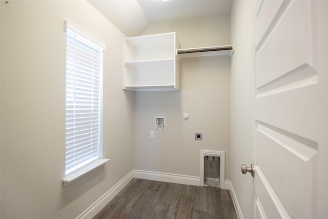
M322 11L324 1L254 2L255 218L328 218Z

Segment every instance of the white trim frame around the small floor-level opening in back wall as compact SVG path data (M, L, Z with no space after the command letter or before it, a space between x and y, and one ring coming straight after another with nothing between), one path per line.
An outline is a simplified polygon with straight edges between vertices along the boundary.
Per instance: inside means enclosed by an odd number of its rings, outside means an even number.
M209 151L209 150L200 150L200 184L199 186L204 186L204 157L205 156L218 156L220 157L220 186L219 188L225 189L225 173L224 170L226 169L225 164L225 152L224 151Z

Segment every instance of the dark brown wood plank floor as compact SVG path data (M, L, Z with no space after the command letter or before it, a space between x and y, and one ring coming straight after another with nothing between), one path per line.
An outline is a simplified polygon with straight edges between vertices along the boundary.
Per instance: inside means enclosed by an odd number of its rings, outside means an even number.
M229 190L134 178L98 218L237 218Z

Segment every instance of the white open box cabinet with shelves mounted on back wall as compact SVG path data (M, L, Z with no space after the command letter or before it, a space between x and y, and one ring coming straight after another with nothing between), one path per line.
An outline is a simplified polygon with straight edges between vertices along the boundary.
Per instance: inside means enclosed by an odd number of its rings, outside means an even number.
M178 90L179 48L175 33L124 39L124 89L131 91Z

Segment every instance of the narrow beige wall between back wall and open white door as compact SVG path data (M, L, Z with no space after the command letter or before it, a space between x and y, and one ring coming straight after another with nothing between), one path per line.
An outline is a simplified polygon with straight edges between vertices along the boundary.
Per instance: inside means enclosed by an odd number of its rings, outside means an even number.
M231 172L243 218L253 218L253 177L243 175L242 164L254 161L254 75L252 71L252 1L234 1L231 11Z

